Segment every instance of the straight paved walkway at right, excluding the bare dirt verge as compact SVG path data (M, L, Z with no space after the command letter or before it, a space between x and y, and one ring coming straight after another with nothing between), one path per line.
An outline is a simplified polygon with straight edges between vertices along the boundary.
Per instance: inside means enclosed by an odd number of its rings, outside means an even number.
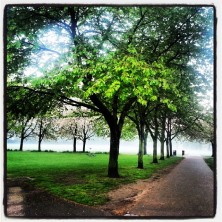
M187 157L128 209L151 217L213 217L214 175L201 157Z

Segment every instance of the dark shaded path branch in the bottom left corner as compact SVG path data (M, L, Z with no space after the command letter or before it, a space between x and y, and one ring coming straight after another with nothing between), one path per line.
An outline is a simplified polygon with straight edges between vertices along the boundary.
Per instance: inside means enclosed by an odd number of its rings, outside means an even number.
M95 207L77 204L42 190L19 185L16 183L16 186L12 184L8 187L5 209L8 217L69 219L111 216L109 212Z

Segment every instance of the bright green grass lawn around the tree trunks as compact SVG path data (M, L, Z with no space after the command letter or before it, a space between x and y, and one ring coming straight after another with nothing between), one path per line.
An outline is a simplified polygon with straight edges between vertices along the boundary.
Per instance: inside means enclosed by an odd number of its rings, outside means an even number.
M143 170L137 169L137 155L119 155L120 178L108 178L108 154L7 152L7 177L31 177L32 185L56 196L87 205L103 204L106 193L121 184L149 178L159 169L175 164L172 157L151 164L152 157L144 156Z

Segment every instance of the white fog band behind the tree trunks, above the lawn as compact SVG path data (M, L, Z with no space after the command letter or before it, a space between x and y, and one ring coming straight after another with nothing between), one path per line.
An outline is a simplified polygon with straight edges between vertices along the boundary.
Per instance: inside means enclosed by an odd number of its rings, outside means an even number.
M132 141L120 141L120 153L137 154L138 153L138 139ZM153 143L151 140L147 142L147 152L152 154ZM19 149L19 139L10 139L7 141L7 149ZM34 140L24 141L23 150L38 150L38 143ZM57 152L72 151L72 141L58 140L58 141L43 141L41 150L52 150ZM182 155L182 150L185 151L185 155L190 156L211 156L212 149L211 144L188 142L188 141L176 141L173 140L173 150L176 150L177 155ZM77 151L82 151L82 142L77 141ZM109 139L108 138L93 138L87 140L86 151L90 152L109 152ZM166 152L166 151L165 151ZM158 154L160 153L160 144L158 143Z

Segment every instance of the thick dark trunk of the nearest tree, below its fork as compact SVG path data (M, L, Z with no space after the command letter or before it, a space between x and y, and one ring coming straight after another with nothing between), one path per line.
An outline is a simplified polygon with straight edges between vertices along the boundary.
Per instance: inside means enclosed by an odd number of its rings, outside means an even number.
M118 178L118 156L119 156L119 144L120 133L117 128L110 129L110 153L109 153L109 166L108 176L111 178Z

